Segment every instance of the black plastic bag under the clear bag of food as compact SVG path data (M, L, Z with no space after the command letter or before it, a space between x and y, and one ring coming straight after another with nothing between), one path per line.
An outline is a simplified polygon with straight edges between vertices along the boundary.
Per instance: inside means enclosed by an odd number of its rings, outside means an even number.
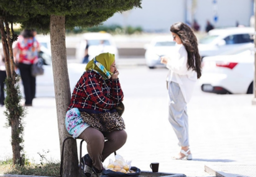
M121 173L114 172L112 170L103 170L101 177L139 177L140 169L137 167L131 167L130 170L135 171L135 173Z

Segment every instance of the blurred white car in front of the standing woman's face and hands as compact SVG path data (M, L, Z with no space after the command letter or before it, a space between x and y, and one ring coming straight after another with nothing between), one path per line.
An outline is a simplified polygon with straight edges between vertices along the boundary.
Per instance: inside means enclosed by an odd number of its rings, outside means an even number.
M158 36L155 37L150 44L145 45L145 59L146 65L153 69L157 66L164 66L160 63L160 58L164 55L168 55L175 47L175 42L172 36Z

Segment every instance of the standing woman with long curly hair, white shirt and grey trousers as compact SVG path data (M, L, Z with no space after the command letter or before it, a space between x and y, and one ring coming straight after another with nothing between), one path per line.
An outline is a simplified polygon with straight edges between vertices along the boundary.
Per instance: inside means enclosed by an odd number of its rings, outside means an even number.
M193 88L201 76L201 58L198 53L197 38L192 29L178 22L171 26L173 41L177 51L169 57L161 57L161 63L169 69L167 77L169 97L169 121L178 138L180 153L173 159L191 160L189 149L187 104Z

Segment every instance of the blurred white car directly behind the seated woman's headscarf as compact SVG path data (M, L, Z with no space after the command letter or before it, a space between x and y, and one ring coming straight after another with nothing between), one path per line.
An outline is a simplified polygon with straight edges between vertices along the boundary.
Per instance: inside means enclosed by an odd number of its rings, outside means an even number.
M81 41L76 47L76 59L83 60L87 42L89 45L89 61L105 52L115 54L115 58L119 58L118 50L111 34L106 32L88 32L82 35Z

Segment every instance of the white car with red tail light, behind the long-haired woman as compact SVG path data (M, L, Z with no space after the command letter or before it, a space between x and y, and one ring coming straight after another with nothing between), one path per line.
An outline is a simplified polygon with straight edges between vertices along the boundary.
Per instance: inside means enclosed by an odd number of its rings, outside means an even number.
M254 80L254 52L203 58L201 90L218 94L251 94Z

